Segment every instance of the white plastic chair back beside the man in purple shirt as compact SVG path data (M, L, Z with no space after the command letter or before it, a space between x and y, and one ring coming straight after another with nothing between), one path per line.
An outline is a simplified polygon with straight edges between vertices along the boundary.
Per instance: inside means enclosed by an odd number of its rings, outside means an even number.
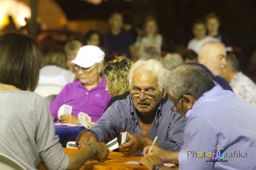
M42 97L47 97L50 95L58 95L62 89L63 86L61 85L38 85L35 93L41 95Z

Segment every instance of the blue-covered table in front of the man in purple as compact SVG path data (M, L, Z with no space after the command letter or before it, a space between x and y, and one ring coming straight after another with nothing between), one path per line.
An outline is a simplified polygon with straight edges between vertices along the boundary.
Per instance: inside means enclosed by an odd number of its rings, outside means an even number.
M60 138L62 144L67 137L77 137L79 132L84 129L84 126L55 126L55 133Z

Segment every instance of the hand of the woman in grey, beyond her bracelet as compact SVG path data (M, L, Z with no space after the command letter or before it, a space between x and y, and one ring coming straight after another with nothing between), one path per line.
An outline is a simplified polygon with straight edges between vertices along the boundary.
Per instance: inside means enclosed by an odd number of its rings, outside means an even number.
M104 162L108 157L108 148L106 144L102 142L92 142L92 144L96 147L97 152L94 155L94 159L98 160L99 162Z

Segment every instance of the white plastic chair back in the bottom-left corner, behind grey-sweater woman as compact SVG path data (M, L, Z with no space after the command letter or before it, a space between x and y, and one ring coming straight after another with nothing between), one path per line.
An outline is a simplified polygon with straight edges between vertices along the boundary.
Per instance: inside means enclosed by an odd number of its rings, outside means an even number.
M0 169L4 170L26 170L26 168L21 165L18 161L12 159L11 157L0 153Z

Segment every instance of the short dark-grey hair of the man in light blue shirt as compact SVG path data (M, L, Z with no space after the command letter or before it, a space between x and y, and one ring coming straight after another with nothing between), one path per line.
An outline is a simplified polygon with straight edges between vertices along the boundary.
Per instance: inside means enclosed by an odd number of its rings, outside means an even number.
M164 82L164 89L168 90L174 99L180 99L183 94L193 96L198 100L215 84L211 76L196 65L183 65L173 70Z

